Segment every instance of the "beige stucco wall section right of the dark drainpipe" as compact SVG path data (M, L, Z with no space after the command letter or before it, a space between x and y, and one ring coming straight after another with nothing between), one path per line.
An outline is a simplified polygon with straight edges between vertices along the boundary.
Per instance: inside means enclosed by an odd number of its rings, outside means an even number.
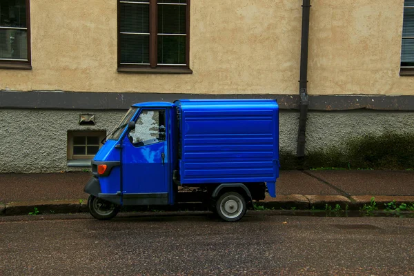
M400 77L404 0L315 0L309 30L314 95L414 95Z

